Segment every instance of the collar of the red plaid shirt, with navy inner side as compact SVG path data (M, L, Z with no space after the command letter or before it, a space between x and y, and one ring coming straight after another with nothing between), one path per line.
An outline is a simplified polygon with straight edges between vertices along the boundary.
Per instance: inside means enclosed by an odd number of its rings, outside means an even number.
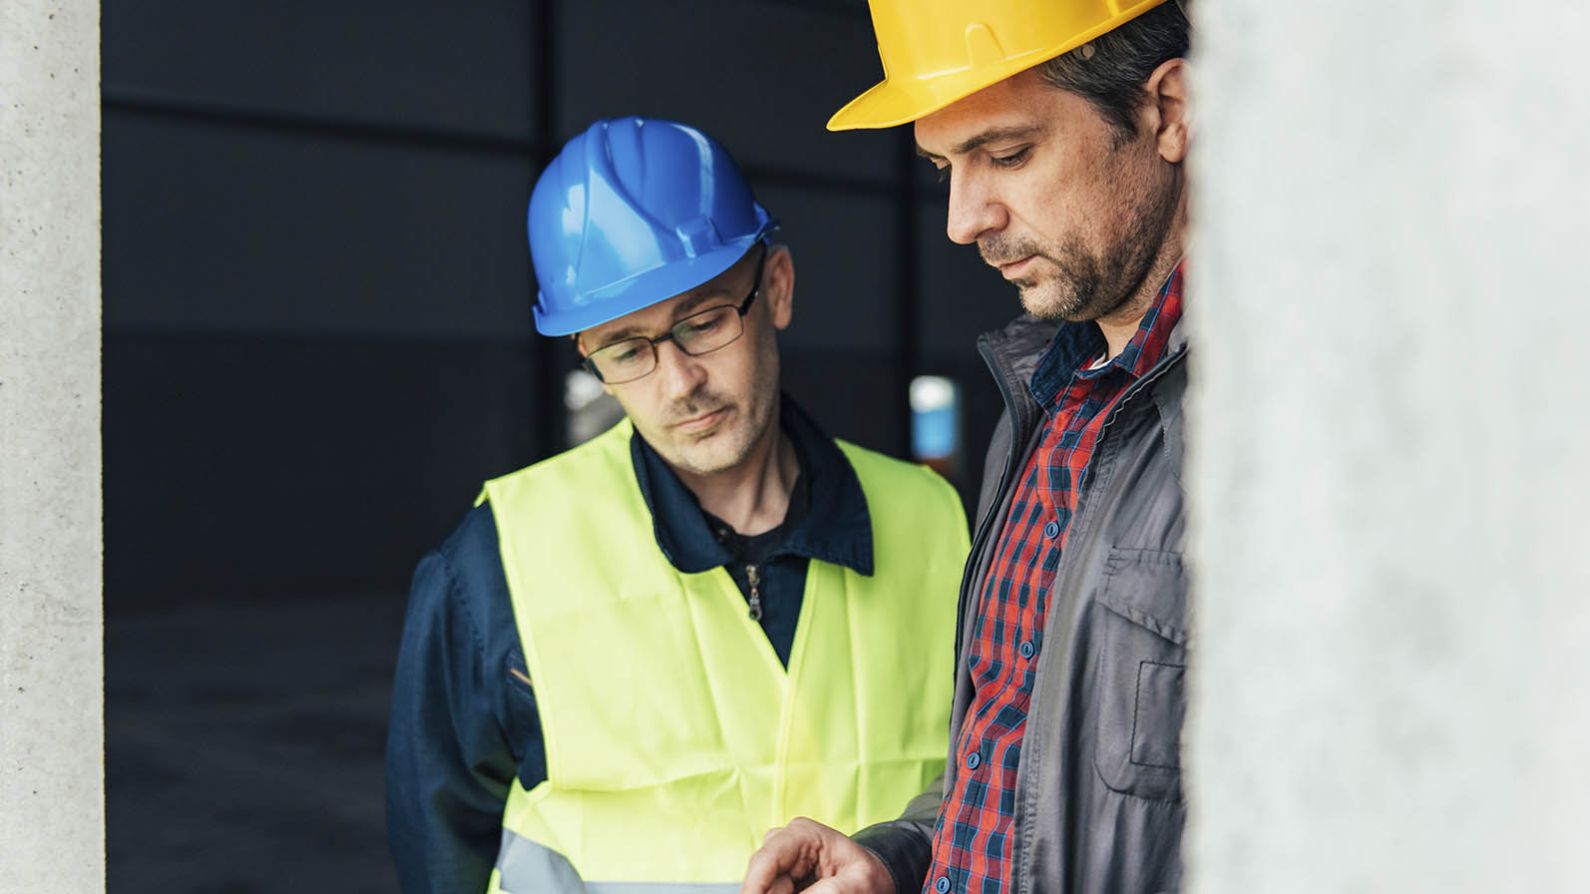
M1029 390L1038 406L1053 406L1061 390L1072 379L1102 379L1111 372L1124 372L1132 379L1142 379L1165 356L1170 332L1181 321L1181 264L1170 272L1165 283L1159 286L1154 304L1143 315L1132 340L1110 363L1092 367L1092 363L1105 352L1107 342L1099 325L1065 323L1054 332L1054 339L1038 360L1038 367L1032 372Z

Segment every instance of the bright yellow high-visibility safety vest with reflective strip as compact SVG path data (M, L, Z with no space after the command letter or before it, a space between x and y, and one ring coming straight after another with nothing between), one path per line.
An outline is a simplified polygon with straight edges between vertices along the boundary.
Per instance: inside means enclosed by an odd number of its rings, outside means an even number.
M954 490L838 442L874 574L809 563L785 671L723 568L658 550L631 433L487 484L547 749L509 792L493 892L733 892L768 829L890 819L944 765Z

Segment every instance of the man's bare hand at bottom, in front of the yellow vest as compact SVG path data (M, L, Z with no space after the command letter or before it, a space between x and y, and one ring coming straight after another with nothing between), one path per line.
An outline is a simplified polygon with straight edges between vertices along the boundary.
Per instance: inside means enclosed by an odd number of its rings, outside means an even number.
M894 894L882 861L827 826L795 819L773 829L750 854L739 894Z

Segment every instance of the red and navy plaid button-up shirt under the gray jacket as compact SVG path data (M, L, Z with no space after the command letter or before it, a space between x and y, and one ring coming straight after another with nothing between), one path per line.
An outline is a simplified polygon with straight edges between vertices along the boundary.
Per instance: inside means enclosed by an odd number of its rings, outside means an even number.
M983 581L971 652L975 692L951 759L960 764L933 830L925 894L1003 894L1010 878L1016 765L1043 649L1054 569L1076 495L1108 410L1165 355L1181 318L1181 269L1165 280L1126 348L1105 363L1094 325L1062 326L1038 361L1030 390L1048 414L1038 449L1011 496L1000 542Z

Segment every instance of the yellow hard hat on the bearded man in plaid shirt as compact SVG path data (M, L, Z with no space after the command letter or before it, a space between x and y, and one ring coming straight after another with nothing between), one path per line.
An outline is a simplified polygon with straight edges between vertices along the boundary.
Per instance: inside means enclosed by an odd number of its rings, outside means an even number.
M1165 0L868 0L884 80L828 130L916 121L1048 62Z

